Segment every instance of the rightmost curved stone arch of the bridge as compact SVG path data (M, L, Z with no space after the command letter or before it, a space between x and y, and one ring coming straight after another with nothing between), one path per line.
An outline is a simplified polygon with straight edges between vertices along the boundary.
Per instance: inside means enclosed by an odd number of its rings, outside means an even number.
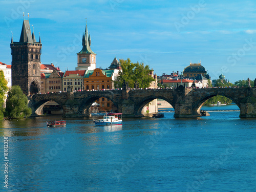
M206 95L201 96L201 98L193 104L193 114L201 114L200 110L201 110L204 102L207 101L208 99L218 96L218 95L221 95L221 96L227 97L228 99L231 99L234 103L236 103L238 105L239 109L241 110L240 102L238 101L237 98L235 98L234 96L227 95L223 92L219 92L219 93L214 92L214 93L207 93Z

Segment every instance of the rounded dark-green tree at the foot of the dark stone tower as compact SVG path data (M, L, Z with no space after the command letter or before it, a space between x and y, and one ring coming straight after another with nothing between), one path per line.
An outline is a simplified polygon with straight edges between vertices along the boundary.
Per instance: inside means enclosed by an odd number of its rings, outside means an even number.
M10 118L29 117L32 110L28 107L28 98L19 86L12 86L6 101L6 116Z

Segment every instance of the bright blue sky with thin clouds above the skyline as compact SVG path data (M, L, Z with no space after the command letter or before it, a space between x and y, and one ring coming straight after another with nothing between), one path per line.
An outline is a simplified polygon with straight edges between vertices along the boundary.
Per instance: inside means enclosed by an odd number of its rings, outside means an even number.
M255 1L35 1L0 0L0 61L11 64L10 41L18 41L29 13L41 62L75 70L86 19L96 66L116 56L144 62L157 75L200 62L216 79L256 78Z

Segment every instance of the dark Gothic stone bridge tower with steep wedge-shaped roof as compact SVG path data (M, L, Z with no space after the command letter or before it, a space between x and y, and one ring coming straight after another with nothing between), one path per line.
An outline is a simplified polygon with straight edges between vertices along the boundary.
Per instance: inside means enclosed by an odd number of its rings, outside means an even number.
M41 83L41 39L31 35L29 20L23 20L22 32L18 42L11 39L12 86L19 86L23 93L30 96L40 93Z

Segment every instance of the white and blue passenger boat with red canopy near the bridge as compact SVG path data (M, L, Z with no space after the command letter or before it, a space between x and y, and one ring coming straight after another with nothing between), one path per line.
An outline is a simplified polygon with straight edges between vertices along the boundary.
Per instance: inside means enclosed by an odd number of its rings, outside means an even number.
M103 119L97 119L93 122L95 125L121 125L122 114L121 113L105 113Z

